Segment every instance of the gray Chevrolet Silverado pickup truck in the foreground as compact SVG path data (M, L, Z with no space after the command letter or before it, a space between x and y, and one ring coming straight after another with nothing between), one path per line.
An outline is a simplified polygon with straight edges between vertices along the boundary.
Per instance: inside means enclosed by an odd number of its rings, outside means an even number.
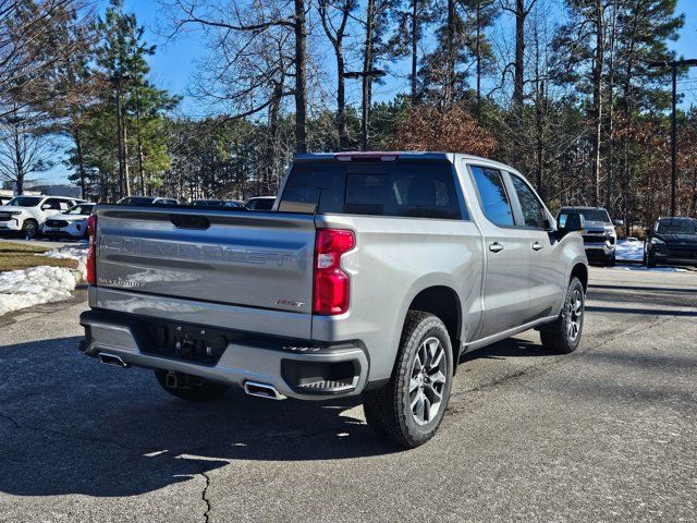
M416 447L464 352L530 328L576 349L583 227L482 158L303 155L270 211L99 205L81 350L187 400L362 394L376 431Z

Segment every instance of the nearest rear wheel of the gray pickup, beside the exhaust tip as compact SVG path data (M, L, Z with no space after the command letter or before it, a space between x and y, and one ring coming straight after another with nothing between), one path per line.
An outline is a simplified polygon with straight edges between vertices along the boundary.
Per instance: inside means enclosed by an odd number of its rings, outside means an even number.
M425 443L443 418L452 378L448 329L432 314L409 311L390 381L363 394L368 425L406 449Z

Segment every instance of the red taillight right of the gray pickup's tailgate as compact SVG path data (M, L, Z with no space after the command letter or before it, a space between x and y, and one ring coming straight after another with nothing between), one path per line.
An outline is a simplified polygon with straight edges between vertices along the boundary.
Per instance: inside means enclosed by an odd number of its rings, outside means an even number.
M356 244L353 231L318 229L315 241L313 313L325 316L348 311L351 280L341 270L341 256Z

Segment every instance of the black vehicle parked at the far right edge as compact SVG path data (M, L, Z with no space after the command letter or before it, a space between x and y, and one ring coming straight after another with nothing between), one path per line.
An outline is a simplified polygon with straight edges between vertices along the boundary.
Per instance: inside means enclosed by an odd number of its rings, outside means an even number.
M659 218L647 231L644 265L697 265L697 219Z

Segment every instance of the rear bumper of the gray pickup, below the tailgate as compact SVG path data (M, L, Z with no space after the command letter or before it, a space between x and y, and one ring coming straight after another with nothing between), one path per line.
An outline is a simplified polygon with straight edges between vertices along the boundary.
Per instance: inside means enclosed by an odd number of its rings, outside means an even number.
M85 327L81 350L88 356L106 353L129 365L180 372L240 387L247 381L268 384L281 394L301 400L355 396L367 385L369 360L358 341L331 344L230 330L219 358L205 364L155 354L154 348L148 346L150 338L143 333L144 321L154 323L152 318L137 315L87 311L80 318Z

